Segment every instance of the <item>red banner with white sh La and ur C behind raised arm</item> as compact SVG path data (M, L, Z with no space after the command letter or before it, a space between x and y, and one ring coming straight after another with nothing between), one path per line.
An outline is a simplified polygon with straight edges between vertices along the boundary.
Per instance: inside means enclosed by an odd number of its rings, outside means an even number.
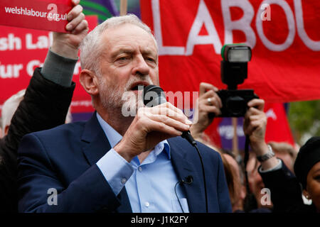
M86 16L90 31L97 26L97 16ZM13 94L26 89L36 67L41 67L52 33L27 28L0 26L0 110ZM80 60L75 65L76 82L71 110L73 113L93 111L91 97L79 83Z

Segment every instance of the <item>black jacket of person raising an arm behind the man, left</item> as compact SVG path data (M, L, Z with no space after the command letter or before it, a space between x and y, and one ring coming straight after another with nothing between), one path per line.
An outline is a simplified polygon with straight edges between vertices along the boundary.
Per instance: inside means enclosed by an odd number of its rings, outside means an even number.
M9 127L0 140L0 212L18 211L16 188L17 150L23 135L54 128L65 123L75 89L55 84L36 68Z

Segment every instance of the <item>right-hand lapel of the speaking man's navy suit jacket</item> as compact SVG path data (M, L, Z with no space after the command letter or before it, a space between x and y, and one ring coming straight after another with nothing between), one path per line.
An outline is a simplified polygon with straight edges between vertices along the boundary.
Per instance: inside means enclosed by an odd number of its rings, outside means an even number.
M196 149L185 148L186 143L176 138L169 139L168 142L170 145L172 165L174 166L178 179L185 179L188 176L193 177L191 184L183 184L186 190L189 211L192 213L206 212L203 177L193 164L193 162L198 162L198 160L193 160L194 158L191 158L193 155L188 157L188 153L193 152L193 150L196 153Z

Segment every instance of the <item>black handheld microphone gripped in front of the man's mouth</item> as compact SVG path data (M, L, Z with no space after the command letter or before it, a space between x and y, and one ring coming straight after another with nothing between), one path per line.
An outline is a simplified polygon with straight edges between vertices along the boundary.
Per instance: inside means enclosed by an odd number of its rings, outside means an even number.
M151 84L144 87L144 93L142 95L145 106L153 107L166 103L166 95L164 94L164 90L159 86ZM188 140L193 147L196 145L196 141L193 139L190 131L182 132L181 137Z

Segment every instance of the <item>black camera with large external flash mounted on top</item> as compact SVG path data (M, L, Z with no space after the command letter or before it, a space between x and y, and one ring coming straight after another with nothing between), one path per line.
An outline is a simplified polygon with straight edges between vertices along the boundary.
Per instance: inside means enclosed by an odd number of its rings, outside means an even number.
M228 89L217 92L223 107L218 117L245 116L247 103L259 97L253 89L237 89L247 79L247 62L251 60L251 48L242 44L224 45L221 49L221 80Z

